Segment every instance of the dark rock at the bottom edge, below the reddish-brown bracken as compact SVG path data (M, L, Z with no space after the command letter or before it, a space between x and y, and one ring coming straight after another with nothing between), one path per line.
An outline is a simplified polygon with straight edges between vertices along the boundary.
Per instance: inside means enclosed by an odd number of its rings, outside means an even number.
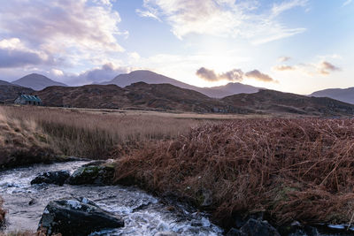
M250 218L240 229L242 236L281 236L266 220Z

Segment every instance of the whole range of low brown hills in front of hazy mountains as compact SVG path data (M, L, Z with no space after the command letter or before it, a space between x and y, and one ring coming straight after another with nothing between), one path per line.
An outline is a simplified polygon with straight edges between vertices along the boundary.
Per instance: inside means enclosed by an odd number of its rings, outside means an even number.
M99 109L170 110L201 113L283 114L304 116L352 116L354 105L327 97L308 97L262 89L222 99L171 84L49 87L35 92L48 106Z

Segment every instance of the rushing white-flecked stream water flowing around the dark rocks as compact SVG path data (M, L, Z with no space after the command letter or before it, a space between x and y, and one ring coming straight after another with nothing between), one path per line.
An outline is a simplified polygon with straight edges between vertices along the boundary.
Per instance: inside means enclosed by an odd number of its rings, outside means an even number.
M203 213L187 209L170 211L158 198L135 187L95 187L54 185L31 186L30 181L43 171L73 172L86 162L34 165L0 172L0 195L8 232L35 231L48 202L63 197L84 196L112 213L124 218L125 227L93 235L154 235L157 232L176 232L180 235L221 235Z

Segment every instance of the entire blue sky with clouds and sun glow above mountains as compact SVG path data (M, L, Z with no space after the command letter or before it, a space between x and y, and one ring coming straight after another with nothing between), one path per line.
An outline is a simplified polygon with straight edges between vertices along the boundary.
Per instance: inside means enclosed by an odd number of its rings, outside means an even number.
M0 80L150 70L198 87L354 87L354 0L0 0Z

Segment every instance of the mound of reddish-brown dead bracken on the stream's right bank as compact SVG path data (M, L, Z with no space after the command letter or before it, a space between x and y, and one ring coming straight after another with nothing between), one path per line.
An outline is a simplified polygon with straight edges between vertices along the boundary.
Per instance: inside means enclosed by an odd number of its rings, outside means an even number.
M116 177L199 207L211 197L207 209L224 226L235 213L259 211L277 225L349 224L353 140L352 119L239 119L196 127L125 156Z

